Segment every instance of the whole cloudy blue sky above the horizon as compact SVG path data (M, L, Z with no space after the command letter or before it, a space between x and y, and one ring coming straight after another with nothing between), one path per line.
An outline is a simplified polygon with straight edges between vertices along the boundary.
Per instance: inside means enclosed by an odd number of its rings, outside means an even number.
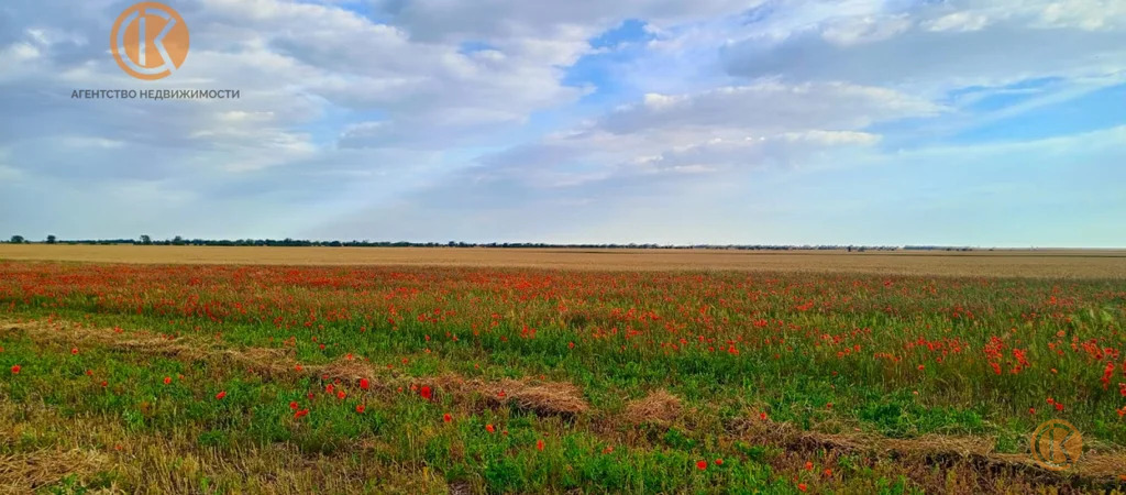
M0 2L0 236L1126 247L1121 0L132 3Z

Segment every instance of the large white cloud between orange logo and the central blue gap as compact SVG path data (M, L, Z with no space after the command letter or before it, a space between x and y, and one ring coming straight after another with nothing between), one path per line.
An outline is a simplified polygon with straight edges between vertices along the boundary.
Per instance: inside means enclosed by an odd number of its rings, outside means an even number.
M343 130L343 147L394 147L432 135L458 141L475 125L519 124L584 91L561 82L561 67L589 48L587 32L577 27L498 37L491 50L463 53L459 39L418 42L409 26L375 24L328 6L276 0L208 0L207 6L216 25L240 21L250 32L244 37L296 69L283 68L271 83L289 81L331 105L385 114ZM286 28L298 25L300 30ZM393 130L394 142L384 138L386 130Z

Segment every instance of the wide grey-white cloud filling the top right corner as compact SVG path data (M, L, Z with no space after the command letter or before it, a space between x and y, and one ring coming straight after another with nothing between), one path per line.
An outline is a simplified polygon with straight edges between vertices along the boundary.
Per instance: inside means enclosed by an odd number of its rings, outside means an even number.
M749 25L742 41L726 48L724 61L732 74L847 80L940 94L1126 71L1121 2L955 0L882 15L826 16L785 36L760 34L770 32L774 23Z

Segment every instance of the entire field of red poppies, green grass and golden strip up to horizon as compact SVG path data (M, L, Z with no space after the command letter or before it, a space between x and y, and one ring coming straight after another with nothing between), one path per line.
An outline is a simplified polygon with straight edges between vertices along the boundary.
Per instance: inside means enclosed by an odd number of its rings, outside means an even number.
M1121 493L1121 256L5 246L0 490Z

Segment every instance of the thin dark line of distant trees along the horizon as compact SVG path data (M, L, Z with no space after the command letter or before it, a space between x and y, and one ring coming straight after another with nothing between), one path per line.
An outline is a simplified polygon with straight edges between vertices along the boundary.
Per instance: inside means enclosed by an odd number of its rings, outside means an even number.
M9 244L30 244L24 236L12 236ZM305 239L185 239L176 236L171 239L153 239L144 235L136 239L59 239L47 236L43 244L65 245L137 245L137 246L269 246L269 247L448 247L448 248L570 248L570 249L730 249L730 250L847 250L864 253L870 250L893 251L904 250L972 250L968 247L948 246L843 246L843 245L658 245L658 244L547 244L547 242L410 242L410 241L370 241L370 240L305 240Z

